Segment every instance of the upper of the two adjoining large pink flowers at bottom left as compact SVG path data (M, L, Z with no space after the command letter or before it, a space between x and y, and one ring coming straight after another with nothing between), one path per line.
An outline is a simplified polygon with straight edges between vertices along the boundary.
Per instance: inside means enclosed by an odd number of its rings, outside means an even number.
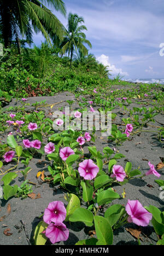
M62 222L65 219L66 208L61 201L49 203L48 208L44 210L43 220L47 224L50 224L51 222Z

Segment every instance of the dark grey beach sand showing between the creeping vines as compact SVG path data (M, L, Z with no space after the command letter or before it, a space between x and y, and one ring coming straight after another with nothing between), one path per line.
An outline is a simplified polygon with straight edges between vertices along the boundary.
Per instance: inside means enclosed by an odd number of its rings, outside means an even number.
M118 87L118 86L117 86ZM84 96L83 96L84 97ZM75 96L69 92L58 93L56 96L52 97L33 97L28 98L27 103L30 105L34 102L40 102L46 99L46 103L58 103L54 105L52 111L55 111L59 107L68 105L66 102L69 100L75 100ZM145 102L147 103L147 102ZM145 104L143 103L143 104ZM20 102L16 102L15 99L10 102L10 105L20 105ZM138 104L134 102L128 106L128 108L137 106ZM27 107L30 111L33 111L34 108L31 106ZM74 101L72 105L72 109L78 108L78 102ZM96 109L97 106L94 106ZM48 115L50 108L45 109L42 108L45 113ZM115 124L119 124L122 118L122 113L120 109L115 108L114 113L117 113L116 119L114 120ZM50 117L50 115L49 115ZM127 115L124 115L127 118ZM155 116L155 120L164 124L163 115L159 114ZM159 123L150 123L150 125L159 126ZM144 128L145 130L152 130L152 127ZM153 128L156 129L156 128ZM96 133L96 142L89 142L83 148L84 152L88 153L87 146L95 145L97 150L102 152L103 148L109 146L110 148L115 147L113 142L109 142L107 137L101 137L100 133ZM1 139L4 140L4 137L1 136ZM121 144L121 146L117 146L116 149L119 153L124 154L126 157L118 160L118 164L122 165L125 168L126 162L130 161L132 163L132 169L137 169L139 166L140 171L144 174L149 170L148 160L154 165L161 162L160 157L163 157L163 144L160 143L156 138L156 133L149 132L140 132L135 136L131 136L130 140L125 141ZM145 160L147 159L147 160ZM33 192L38 194L40 193L40 198L31 199L27 197L25 199L12 197L9 198L8 201L4 199L0 199L0 220L2 216L5 216L0 221L0 244L1 245L28 245L33 244L33 234L34 229L38 222L40 221L39 215L44 212L44 209L48 207L49 202L52 201L62 201L67 207L67 201L64 199L62 191L58 185L53 187L48 182L43 182L41 179L37 179L37 172L40 170L44 170L45 174L48 173L48 164L49 160L46 159L46 155L43 155L42 158L33 158L30 162L30 167L32 171L29 172L27 179L31 182L36 183L36 185L32 186ZM21 170L23 165L20 163L17 170ZM104 165L104 171L108 169L108 166ZM161 174L160 179L163 180L164 172L163 169L160 169L158 172ZM2 176L1 176L2 177ZM164 210L164 201L160 199L160 187L157 185L154 180L157 177L154 175L149 175L144 177L143 179L133 179L130 180L124 186L115 186L114 189L117 193L121 195L123 190L125 189L126 197L124 199L117 199L113 201L110 205L120 203L126 205L128 199L136 200L138 199L143 206L155 205L160 210ZM21 185L22 183L22 174L19 173L18 177L14 180L17 185ZM0 185L2 185L2 181L0 181ZM11 212L7 212L7 206L10 204ZM57 244L60 245L73 245L79 240L83 240L86 238L90 238L89 230L92 230L93 227L86 227L82 222L71 222L69 224L66 223L67 228L69 229L69 238L65 242L59 242ZM124 227L121 227L118 230L114 231L113 244L114 245L137 245L138 241L134 238L130 232L127 232L126 227L133 227L134 229L138 229L138 227L134 224L128 224ZM10 236L4 235L5 229L10 229ZM141 228L141 237L140 243L143 245L148 244L156 244L157 236L154 232L153 226L150 225L147 227Z

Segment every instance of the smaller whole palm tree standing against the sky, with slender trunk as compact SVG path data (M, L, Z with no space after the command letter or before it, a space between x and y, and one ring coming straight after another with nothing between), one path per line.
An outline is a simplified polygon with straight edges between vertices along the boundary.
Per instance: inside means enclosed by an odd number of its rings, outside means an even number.
M77 52L77 49L80 49L80 51L87 55L88 49L84 44L87 44L90 48L92 47L89 40L86 40L86 35L84 32L81 32L83 30L87 30L86 26L80 25L81 23L84 23L83 17L79 17L78 14L68 14L68 30L66 30L66 36L63 39L63 42L61 44L61 49L63 54L68 52L68 56L71 53L71 59L70 59L70 68L72 65L72 58L73 58L73 52L74 49ZM78 54L78 52L77 52Z

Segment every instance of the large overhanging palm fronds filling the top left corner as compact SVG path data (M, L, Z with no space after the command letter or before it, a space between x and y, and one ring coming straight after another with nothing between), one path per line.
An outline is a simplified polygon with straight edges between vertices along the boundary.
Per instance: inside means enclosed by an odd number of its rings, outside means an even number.
M5 48L15 37L20 52L20 35L31 41L33 30L41 31L49 44L52 35L63 36L65 27L43 3L66 16L62 0L0 0L0 34Z

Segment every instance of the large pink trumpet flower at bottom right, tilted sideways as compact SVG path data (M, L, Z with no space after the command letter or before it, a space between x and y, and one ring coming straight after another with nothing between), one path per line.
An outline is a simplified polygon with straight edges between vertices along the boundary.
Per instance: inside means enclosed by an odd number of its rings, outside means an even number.
M130 201L126 204L126 212L128 215L127 221L133 222L138 226L148 226L152 219L152 214L149 213L138 200Z

